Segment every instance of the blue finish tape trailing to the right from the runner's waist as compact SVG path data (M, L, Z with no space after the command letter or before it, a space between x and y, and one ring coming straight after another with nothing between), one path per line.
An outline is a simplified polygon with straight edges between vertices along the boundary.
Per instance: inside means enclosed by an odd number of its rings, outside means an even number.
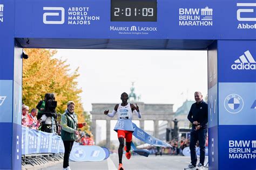
M172 147L170 144L167 144L166 142L160 139L150 136L150 134L147 134L144 130L138 128L136 124L132 123L132 125L134 129L134 132L132 134L139 140L142 140L143 142L154 146Z

